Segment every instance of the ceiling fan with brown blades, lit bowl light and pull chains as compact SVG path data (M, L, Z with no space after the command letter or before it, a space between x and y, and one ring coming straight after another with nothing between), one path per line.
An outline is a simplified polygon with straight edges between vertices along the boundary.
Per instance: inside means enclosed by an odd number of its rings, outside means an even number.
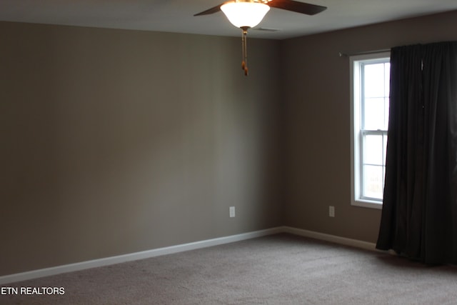
M241 69L243 69L244 75L248 76L246 35L248 34L248 29L253 28L262 21L263 17L270 10L270 7L295 11L296 13L306 15L315 15L327 9L326 6L293 0L231 0L194 16L209 15L223 11L231 24L242 30L243 59L241 61Z

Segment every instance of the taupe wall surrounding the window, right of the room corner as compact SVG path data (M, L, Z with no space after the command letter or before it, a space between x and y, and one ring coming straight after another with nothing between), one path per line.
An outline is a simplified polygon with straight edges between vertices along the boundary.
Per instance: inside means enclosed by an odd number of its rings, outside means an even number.
M351 206L349 59L338 52L457 40L455 29L457 11L283 41L285 224L376 242L381 210Z

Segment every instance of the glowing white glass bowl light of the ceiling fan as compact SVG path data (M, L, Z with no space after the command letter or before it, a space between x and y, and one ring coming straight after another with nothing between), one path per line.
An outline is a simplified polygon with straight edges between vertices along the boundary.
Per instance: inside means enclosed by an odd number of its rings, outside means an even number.
M221 10L237 28L253 28L260 24L270 10L270 6L253 1L233 1L223 4Z

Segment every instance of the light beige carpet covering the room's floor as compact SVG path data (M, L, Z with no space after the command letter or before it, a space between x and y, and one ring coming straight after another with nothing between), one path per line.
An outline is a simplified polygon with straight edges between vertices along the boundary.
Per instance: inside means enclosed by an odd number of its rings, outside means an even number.
M0 304L457 304L455 266L276 234L3 286Z

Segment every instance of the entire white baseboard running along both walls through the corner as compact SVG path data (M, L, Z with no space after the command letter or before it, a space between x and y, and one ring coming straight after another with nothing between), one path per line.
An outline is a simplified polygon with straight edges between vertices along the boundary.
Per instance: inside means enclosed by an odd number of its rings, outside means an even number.
M136 252L132 254L124 254L119 256L106 257L104 259L94 259L92 261L81 261L80 263L68 264L62 266L55 266L46 269L39 269L34 271L26 271L19 274L10 274L6 276L0 276L0 285L14 283L16 281L26 281L29 279L37 279L43 276L52 276L56 274L63 274L71 271L80 271L89 268L96 268L101 266L107 266L112 264L124 263L126 261L136 261L138 259L149 259L155 256L161 256L166 254L174 254L182 251L189 251L194 249L202 249L209 246L217 246L220 244L229 244L235 241L243 241L246 239L254 239L256 237L278 234L278 233L289 233L299 236L306 236L313 239L321 239L323 241L331 241L336 244L344 244L347 246L355 246L361 249L375 250L375 244L366 241L358 241L356 239L347 239L345 237L318 233L315 231L308 231L303 229L296 229L290 226L278 226L271 229L265 229L260 231L252 231L243 234L236 234L231 236L224 236L217 239L206 239L204 241L196 241L189 244L180 244L176 246L167 246L159 249L152 249L147 251Z

